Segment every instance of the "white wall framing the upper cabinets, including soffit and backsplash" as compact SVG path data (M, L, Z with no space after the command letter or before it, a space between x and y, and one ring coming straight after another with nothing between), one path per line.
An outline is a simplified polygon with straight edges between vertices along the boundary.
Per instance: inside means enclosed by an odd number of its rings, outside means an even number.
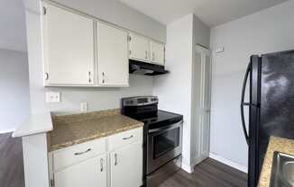
M59 0L59 2L126 29L165 41L166 27L164 25L117 1ZM44 88L41 63L40 0L24 0L24 3L28 33L32 112L78 111L80 102L88 102L88 109L91 111L113 109L119 107L122 97L152 94L153 78L134 75L130 76L129 88ZM50 90L60 92L60 103L45 102L45 93Z

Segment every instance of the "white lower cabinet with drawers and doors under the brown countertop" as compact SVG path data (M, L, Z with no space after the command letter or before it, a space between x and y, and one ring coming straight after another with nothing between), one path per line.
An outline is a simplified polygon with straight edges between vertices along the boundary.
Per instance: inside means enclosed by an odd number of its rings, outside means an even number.
M140 187L142 128L59 149L49 158L51 187Z

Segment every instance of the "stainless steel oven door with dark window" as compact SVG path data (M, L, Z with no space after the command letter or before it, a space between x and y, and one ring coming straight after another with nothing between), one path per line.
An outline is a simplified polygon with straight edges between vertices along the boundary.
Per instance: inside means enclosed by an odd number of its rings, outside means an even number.
M147 174L179 156L182 151L182 121L159 129L149 129L147 136Z

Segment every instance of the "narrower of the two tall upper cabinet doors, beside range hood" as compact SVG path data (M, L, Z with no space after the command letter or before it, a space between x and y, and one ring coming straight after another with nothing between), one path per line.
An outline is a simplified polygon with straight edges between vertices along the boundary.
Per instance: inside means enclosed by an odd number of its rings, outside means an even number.
M97 24L99 85L129 85L127 32Z

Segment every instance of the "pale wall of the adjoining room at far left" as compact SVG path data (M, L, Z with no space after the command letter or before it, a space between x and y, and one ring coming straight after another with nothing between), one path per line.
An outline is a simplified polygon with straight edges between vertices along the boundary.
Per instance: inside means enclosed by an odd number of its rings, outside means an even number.
M0 49L0 133L14 131L30 112L27 54Z

